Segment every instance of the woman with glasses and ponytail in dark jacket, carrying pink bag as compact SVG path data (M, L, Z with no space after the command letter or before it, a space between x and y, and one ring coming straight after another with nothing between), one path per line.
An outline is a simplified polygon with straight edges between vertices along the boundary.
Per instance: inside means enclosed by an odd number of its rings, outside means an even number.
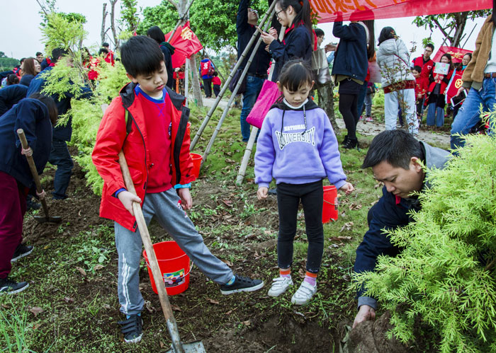
M269 33L262 33L261 38L269 45L269 52L276 60L272 81L277 82L284 64L291 59L303 59L312 64L312 49L316 49L317 40L310 21L310 4L308 0L278 0L276 16L281 25L286 26L286 33L281 42L278 33L271 28Z

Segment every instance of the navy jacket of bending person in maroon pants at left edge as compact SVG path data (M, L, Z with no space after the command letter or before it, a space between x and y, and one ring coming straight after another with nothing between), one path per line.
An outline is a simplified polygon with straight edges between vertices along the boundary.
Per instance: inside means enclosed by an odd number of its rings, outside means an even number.
M52 144L52 123L47 106L40 100L25 98L0 117L0 170L30 187L33 177L26 156L21 154L21 141L17 135L20 128L33 149L35 166L41 174Z

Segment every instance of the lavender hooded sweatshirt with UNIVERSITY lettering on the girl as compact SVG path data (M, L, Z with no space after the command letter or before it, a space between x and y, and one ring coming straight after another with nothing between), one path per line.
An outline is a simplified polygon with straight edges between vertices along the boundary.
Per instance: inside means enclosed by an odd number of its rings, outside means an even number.
M303 108L293 110L285 103L267 113L255 154L259 187L269 187L273 177L277 184L313 183L327 177L337 189L346 183L329 118L312 100L305 104L305 114L306 122Z

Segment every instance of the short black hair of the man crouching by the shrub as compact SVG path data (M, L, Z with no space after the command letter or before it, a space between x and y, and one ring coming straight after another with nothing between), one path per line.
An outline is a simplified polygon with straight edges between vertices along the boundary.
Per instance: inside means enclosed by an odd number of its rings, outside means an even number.
M395 168L410 169L412 157L423 158L420 142L405 130L386 130L373 138L361 168L385 161Z

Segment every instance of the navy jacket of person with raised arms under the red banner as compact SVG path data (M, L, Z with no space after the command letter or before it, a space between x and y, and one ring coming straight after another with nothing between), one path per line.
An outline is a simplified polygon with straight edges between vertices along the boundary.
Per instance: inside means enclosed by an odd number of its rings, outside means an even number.
M367 34L360 23L343 25L334 22L332 35L341 38L334 54L332 75L349 76L365 81L368 69Z

